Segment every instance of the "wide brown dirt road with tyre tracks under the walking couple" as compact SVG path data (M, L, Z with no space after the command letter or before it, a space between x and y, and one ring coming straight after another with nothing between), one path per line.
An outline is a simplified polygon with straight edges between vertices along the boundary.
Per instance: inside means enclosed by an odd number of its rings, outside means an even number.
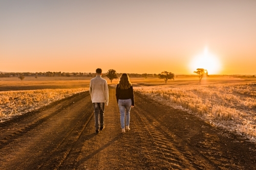
M135 92L121 134L115 89L94 134L89 92L0 124L0 169L255 169L255 144ZM241 142L242 141L242 142Z

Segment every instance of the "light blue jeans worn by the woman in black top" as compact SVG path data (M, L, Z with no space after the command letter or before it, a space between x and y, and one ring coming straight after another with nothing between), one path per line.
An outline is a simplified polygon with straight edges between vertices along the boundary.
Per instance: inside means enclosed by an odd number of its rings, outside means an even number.
M126 126L130 125L130 110L132 107L132 100L131 99L125 99L125 100L118 100L118 107L120 110L120 122L121 122L121 128L124 128L124 117L126 116Z

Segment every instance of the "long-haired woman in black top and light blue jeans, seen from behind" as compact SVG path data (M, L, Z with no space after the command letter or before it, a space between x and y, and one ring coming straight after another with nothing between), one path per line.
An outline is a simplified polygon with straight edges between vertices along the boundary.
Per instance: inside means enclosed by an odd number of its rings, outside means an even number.
M132 83L130 82L129 76L125 73L121 75L120 81L116 86L116 100L120 110L120 122L122 133L125 133L125 130L130 130L130 110L131 107L134 107L133 86ZM126 115L125 128L124 115Z

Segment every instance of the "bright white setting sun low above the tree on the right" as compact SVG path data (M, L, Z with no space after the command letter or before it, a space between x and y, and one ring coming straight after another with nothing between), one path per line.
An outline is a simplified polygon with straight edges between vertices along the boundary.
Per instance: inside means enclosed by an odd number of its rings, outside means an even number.
M218 58L208 53L208 49L205 48L203 55L198 55L191 60L189 67L191 72L197 70L197 68L207 69L209 75L216 75L220 72L221 63Z

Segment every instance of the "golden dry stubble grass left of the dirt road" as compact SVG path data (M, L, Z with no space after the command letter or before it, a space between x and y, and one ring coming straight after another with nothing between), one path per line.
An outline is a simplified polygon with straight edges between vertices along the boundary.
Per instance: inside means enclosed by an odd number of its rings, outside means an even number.
M42 89L0 92L0 118L22 114L54 101L66 98L75 93L87 91L88 88L78 89Z

